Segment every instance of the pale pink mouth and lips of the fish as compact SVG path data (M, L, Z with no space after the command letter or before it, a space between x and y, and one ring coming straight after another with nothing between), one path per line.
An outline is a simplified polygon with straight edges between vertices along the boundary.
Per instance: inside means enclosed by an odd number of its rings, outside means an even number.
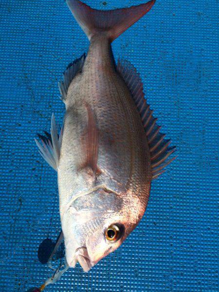
M91 261L86 247L79 247L76 249L73 261L69 264L70 267L75 267L76 263L79 263L84 272L89 272L91 268L97 263Z

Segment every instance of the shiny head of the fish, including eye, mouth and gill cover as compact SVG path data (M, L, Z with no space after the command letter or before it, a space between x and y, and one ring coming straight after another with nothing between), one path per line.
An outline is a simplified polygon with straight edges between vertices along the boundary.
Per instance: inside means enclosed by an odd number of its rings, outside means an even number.
M68 265L79 262L88 272L115 251L138 222L129 206L104 188L77 198L62 218Z

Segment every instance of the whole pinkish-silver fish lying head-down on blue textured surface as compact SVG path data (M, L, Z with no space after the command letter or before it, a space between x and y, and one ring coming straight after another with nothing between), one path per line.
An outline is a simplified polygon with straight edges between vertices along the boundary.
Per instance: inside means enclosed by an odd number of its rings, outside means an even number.
M57 171L66 261L88 272L138 225L151 182L176 158L176 147L160 131L139 73L128 60L116 64L111 49L155 0L114 10L66 2L90 46L58 83L66 108L60 133L53 115L51 133L36 143Z

